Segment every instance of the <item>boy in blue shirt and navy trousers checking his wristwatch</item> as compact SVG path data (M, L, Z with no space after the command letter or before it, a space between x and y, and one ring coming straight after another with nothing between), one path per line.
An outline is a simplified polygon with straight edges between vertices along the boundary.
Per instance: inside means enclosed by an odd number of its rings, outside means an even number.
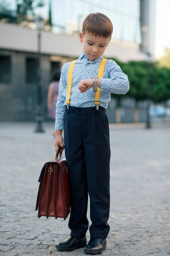
M70 62L64 64L61 71L54 144L56 150L59 145L65 148L69 168L71 214L68 227L71 235L56 245L59 250L85 247L85 253L99 254L106 248L110 209L110 143L105 109L111 100L110 93L125 94L129 90L127 76L115 61L107 60L103 78L97 78L112 32L111 20L104 14L92 13L85 17L79 33L83 52L74 66L70 104L66 99ZM96 86L101 93L100 104L95 106ZM91 239L86 246L88 194L92 224L89 228Z

